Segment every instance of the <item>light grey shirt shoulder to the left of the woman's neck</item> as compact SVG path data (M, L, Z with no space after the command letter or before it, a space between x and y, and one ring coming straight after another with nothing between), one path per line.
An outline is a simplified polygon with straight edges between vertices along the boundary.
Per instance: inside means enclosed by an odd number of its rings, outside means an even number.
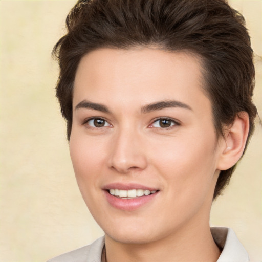
M91 245L54 257L47 262L100 262L103 247L104 237L100 237Z

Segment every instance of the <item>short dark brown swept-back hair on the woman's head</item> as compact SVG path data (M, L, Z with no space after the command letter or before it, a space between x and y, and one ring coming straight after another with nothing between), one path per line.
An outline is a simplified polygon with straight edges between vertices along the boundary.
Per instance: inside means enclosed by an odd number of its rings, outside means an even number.
M225 0L79 0L66 19L67 34L55 45L59 63L56 96L72 128L72 96L80 59L100 48L157 46L200 57L203 89L212 104L217 137L239 112L249 115L249 134L257 114L252 102L255 70L244 17ZM247 146L246 143L246 146ZM246 147L245 147L246 149ZM220 172L213 199L229 183L235 165Z

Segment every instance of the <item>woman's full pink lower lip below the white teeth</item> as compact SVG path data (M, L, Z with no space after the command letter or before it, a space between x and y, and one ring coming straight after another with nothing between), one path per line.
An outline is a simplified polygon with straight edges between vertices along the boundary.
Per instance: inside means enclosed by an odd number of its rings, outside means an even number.
M148 202L153 201L154 198L159 193L159 191L157 191L154 194L143 195L143 197L138 197L135 199L121 199L110 194L107 190L105 190L104 192L105 192L106 199L111 206L117 209L128 210L128 211L138 209L144 206L145 204L147 204Z

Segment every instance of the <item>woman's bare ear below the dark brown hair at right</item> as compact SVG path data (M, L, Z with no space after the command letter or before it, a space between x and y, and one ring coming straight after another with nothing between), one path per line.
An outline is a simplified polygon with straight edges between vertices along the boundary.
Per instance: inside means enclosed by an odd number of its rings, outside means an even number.
M233 124L225 132L220 144L220 157L217 169L227 170L242 157L249 132L247 112L239 112Z

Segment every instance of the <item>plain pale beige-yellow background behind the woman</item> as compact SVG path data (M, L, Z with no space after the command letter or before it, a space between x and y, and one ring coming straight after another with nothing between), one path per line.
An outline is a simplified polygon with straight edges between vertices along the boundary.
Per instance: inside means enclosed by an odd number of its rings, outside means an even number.
M75 1L0 1L0 261L46 261L103 232L78 192L54 97L51 50ZM262 117L262 2L231 1L243 12L257 57L255 103ZM232 227L262 261L262 127L223 195L211 225Z

